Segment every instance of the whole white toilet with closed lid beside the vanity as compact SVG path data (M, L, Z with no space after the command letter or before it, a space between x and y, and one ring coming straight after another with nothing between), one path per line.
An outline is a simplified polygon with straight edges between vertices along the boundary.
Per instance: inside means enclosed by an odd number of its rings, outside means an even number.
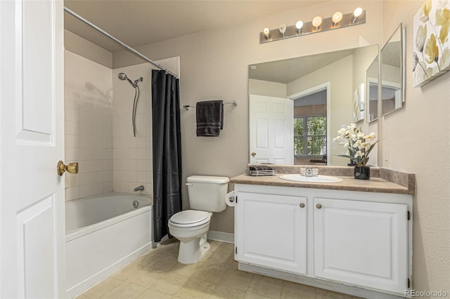
M226 208L225 195L229 178L191 175L186 180L191 210L181 211L169 219L169 232L180 241L178 261L195 264L210 249L207 232L212 213Z

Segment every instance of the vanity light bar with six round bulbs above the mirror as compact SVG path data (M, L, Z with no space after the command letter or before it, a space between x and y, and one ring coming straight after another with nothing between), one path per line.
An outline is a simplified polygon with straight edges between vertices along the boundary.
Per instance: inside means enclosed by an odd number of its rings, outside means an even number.
M322 18L318 15L314 17L311 22L298 20L295 25L291 26L281 24L276 29L264 28L264 30L259 33L259 44L364 23L366 23L366 11L361 7L356 8L352 13L342 13L341 11L337 11L333 13L333 16L330 18Z

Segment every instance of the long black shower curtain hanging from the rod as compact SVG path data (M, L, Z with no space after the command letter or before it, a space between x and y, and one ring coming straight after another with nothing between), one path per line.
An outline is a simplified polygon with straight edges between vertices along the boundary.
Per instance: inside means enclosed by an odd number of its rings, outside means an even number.
M167 221L181 211L179 79L152 70L153 230L155 242L169 232Z

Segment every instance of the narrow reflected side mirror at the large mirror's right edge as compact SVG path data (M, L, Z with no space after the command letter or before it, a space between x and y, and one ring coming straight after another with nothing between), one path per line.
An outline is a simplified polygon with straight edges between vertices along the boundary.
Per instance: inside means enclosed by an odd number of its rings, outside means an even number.
M367 86L367 120L368 122L378 119L378 56L373 60L366 72Z

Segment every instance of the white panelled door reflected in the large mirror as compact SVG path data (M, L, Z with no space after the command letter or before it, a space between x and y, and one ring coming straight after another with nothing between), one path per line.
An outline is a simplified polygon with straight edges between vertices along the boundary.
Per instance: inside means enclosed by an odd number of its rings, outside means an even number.
M294 102L250 95L250 163L294 164Z

